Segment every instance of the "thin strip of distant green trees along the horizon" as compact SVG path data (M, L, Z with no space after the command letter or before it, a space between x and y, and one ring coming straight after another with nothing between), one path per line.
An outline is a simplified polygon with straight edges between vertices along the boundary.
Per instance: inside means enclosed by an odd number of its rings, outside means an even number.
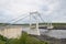
M38 23L40 25L46 25L47 23ZM52 23L54 26L66 26L66 23ZM0 25L10 25L10 23L0 23ZM29 23L26 24L12 24L12 25L23 25L23 26L29 26ZM32 25L35 25L35 23L33 23Z

